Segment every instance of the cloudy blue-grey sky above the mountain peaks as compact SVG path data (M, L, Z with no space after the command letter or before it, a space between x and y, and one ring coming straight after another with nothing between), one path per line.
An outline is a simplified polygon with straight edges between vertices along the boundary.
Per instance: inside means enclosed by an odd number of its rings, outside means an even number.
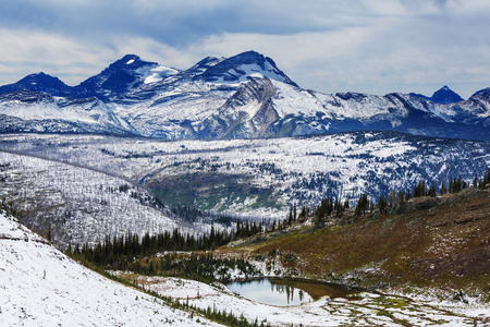
M256 50L304 88L469 97L490 86L488 0L0 0L0 84L69 85L126 53L187 69Z

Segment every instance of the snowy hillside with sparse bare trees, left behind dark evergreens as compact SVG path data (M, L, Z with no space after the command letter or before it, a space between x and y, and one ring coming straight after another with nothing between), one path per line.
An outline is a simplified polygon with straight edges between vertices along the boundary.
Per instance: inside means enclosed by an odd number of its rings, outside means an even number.
M30 229L42 235L51 230L60 249L127 232L143 237L175 228L183 233L210 229L174 217L127 180L62 162L0 153L0 198L11 202Z

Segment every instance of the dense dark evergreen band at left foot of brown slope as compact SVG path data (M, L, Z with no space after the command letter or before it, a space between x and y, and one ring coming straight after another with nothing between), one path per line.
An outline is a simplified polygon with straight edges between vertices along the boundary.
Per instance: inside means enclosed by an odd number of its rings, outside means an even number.
M211 227L209 234L200 237L182 234L177 229L155 235L146 233L143 238L128 232L121 237L106 237L103 242L99 242L95 246L86 243L82 247L76 245L73 249L70 244L66 254L82 262L123 269L133 262L134 257L150 256L164 251L215 250L233 240L248 238L260 231L262 231L261 223L237 221L235 229L231 232L219 231Z

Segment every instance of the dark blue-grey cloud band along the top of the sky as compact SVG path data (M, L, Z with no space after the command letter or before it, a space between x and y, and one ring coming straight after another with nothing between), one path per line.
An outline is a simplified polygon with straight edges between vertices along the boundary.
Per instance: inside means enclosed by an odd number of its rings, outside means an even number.
M187 46L219 33L290 35L358 24L358 1L9 1L0 25L77 37L145 35ZM357 17L356 17L357 16Z

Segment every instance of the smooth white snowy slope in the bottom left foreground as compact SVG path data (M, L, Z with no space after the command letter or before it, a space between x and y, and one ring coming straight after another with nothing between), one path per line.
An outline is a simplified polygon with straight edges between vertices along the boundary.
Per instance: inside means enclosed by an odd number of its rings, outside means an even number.
M221 326L76 264L0 213L1 326Z

